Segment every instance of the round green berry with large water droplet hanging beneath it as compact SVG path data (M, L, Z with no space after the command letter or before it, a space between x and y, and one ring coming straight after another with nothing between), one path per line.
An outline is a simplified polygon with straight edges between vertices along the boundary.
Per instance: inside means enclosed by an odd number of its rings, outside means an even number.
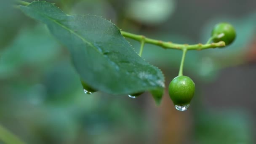
M184 106L189 104L194 93L195 83L187 76L177 76L169 85L169 96L174 105Z

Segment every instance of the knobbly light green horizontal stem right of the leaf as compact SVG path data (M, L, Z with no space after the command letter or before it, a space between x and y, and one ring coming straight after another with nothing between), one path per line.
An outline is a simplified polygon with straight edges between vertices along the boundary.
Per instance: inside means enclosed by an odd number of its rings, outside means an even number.
M169 49L183 50L186 48L187 50L203 50L203 49L207 49L207 48L217 48L217 47L225 46L225 43L223 41L220 41L218 43L205 44L205 45L203 45L202 43L198 43L195 45L188 45L188 44L177 44L177 43L171 43L171 42L164 42L161 40L147 38L143 35L135 35L135 34L132 34L129 32L124 32L124 31L121 31L121 34L124 37L129 37L133 40L138 40L141 42L141 40L144 39L145 43L151 43L154 45L159 45L162 48L169 48Z

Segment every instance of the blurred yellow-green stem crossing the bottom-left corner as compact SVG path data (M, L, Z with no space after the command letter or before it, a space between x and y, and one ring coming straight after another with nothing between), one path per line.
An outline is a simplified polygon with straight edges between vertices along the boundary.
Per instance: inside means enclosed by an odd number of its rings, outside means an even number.
M2 125L0 125L0 140L5 144L25 144L17 136L5 129Z

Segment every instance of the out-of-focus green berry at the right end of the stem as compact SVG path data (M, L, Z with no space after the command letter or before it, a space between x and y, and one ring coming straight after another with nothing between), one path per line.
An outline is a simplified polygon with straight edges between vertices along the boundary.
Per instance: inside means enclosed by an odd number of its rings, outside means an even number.
M211 36L214 37L214 43L224 41L226 45L229 45L235 40L236 32L235 28L231 24L219 23L213 28Z

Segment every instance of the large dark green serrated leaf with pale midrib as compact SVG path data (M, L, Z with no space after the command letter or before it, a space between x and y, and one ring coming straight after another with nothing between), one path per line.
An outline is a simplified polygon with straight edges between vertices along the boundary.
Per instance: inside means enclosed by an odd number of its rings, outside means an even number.
M69 16L51 3L21 6L28 16L47 24L50 32L70 51L81 80L110 94L158 91L162 97L164 76L134 51L110 21L97 16Z

